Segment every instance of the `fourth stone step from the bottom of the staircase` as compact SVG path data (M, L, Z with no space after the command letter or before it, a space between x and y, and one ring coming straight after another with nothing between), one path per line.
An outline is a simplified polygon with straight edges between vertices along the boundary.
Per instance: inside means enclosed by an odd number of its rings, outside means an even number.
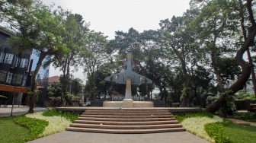
M145 115L145 116L130 116L130 115L87 115L82 114L81 117L95 117L95 118L120 118L120 119L136 119L136 118L173 118L173 115Z

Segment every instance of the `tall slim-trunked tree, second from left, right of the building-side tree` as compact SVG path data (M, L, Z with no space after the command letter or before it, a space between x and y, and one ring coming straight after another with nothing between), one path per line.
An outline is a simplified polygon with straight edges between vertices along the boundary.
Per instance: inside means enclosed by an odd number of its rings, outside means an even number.
M62 9L59 9L59 13L63 17L62 24L65 28L65 31L62 33L62 43L69 48L69 53L61 59L56 57L55 59L48 60L48 65L53 62L53 66L55 68L59 67L62 71L62 96L68 100L65 95L68 91L69 78L71 76L70 68L74 67L76 69L80 65L82 50L85 53L87 51L85 44L87 43L88 24L84 24L85 21L83 21L80 14L72 14L70 11Z

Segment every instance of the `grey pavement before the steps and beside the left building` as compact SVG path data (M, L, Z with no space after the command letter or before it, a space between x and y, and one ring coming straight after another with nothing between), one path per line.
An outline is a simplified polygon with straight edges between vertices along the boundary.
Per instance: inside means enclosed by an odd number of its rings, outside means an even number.
M18 116L27 113L28 106L14 106L13 116ZM34 111L46 111L46 108L35 107ZM0 107L1 116L11 115L11 105ZM38 138L29 143L207 143L208 141L191 134L190 132L163 132L150 134L107 134L107 133L92 133L92 132L71 132L62 131L53 135L48 135L43 138Z

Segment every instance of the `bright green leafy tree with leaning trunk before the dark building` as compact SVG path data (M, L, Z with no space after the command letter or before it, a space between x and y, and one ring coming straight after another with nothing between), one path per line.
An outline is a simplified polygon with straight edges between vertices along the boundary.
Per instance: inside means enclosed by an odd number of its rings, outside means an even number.
M51 7L43 5L40 1L24 0L13 5L8 5L5 21L12 29L17 30L16 36L8 39L8 45L16 51L35 49L39 56L37 67L31 71L30 110L34 113L35 96L37 90L36 75L42 65L43 59L52 56L62 58L69 49L62 44L61 34L64 30L62 17Z

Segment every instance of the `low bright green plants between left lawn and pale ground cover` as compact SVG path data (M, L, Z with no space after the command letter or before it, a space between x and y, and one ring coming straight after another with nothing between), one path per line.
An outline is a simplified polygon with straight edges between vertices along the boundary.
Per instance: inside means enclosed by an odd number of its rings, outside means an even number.
M26 116L17 116L14 118L14 122L20 126L30 129L30 135L25 138L25 141L32 141L39 138L38 135L43 133L43 130L48 126L48 122L45 120L31 119Z

